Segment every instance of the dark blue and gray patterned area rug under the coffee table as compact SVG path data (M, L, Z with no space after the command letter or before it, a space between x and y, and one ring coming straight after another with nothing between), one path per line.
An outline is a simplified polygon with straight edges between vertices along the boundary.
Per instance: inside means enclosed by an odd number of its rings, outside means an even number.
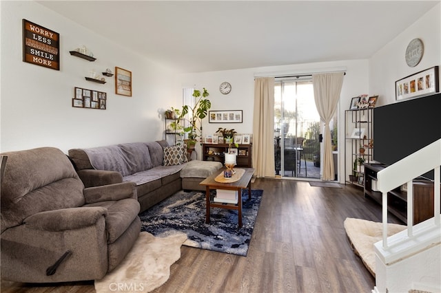
M211 208L210 223L205 224L205 193L180 191L141 213L141 230L157 237L183 232L188 237L185 246L246 257L262 195L253 189L248 200L248 190L242 191L243 226L238 228L237 210Z

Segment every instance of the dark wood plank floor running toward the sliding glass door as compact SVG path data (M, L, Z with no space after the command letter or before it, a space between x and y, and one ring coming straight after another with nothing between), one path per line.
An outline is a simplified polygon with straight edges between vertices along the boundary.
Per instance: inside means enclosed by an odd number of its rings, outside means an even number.
M170 279L154 292L370 292L375 279L353 254L343 221L381 221L381 207L354 186L258 179L263 189L247 257L182 246ZM204 217L205 214L201 214ZM389 222L400 223L395 217ZM94 292L93 282L25 285L1 292Z

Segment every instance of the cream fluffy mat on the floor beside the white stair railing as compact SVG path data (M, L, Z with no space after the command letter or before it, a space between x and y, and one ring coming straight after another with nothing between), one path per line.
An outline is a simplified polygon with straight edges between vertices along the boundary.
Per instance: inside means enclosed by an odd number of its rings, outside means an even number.
M353 252L362 259L369 272L375 276L373 243L382 240L382 223L365 219L346 218L344 226L347 237L351 241ZM387 236L394 235L406 228L407 226L404 225L387 224Z

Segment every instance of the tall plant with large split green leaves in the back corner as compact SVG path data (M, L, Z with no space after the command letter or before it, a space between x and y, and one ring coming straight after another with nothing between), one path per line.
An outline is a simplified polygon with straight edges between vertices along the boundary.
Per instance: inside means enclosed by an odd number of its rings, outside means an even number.
M194 106L184 105L181 110L174 109L178 114L176 118L176 124L179 124L183 120L189 122L189 126L183 127L183 134L187 133L187 139L184 140L187 144L187 149L194 149L196 141L202 136L202 120L208 114L208 109L212 107L207 97L209 93L205 87L201 93L200 90L194 89L192 96L194 97ZM185 116L189 113L189 118Z

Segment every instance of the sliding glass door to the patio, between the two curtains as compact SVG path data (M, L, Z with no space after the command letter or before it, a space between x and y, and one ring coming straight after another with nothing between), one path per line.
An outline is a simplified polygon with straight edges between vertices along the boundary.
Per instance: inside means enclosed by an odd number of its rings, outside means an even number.
M274 88L276 175L320 179L320 116L312 80L285 78Z

